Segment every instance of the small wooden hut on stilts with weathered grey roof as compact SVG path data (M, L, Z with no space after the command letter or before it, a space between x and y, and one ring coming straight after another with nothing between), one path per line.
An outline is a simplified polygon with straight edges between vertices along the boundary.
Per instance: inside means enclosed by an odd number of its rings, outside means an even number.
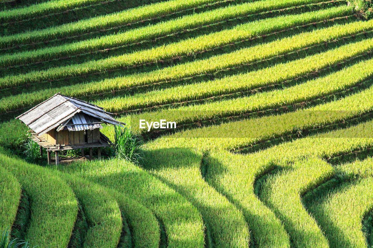
M58 152L62 150L98 147L98 158L101 157L101 147L113 143L100 132L101 124L113 124L123 127L125 123L116 121L112 114L103 108L60 93L36 105L34 108L16 117L29 128L32 140L46 148L48 164L51 162L51 152L56 153L56 164L59 163ZM40 147L40 151L41 150Z

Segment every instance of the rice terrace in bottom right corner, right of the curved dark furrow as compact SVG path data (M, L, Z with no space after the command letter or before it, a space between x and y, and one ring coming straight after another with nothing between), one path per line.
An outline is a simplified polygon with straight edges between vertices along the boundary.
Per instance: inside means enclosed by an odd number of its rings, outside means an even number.
M344 177L355 178L315 199L309 211L329 238L330 247L369 247L362 232L363 217L373 208L372 158L340 165Z

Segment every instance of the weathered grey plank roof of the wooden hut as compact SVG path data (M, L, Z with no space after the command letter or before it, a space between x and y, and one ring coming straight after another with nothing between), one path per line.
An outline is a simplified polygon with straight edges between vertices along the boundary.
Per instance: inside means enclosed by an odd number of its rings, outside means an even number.
M93 117L93 119L84 118L85 115L82 114ZM125 125L125 123L115 120L111 115L112 113L104 111L103 108L97 105L57 93L46 101L34 106L34 108L19 115L16 119L25 123L37 135L43 135L54 128L57 128L57 131L59 131L65 125L68 125L69 122L73 124L73 128L69 125L69 130L97 128L97 124L100 123L87 122L87 119L94 120L94 118L102 123L119 125L121 127Z

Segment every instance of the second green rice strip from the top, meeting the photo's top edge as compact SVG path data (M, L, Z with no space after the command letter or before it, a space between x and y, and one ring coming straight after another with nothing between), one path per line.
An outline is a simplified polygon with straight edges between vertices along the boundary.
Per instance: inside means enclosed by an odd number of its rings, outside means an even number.
M187 6L189 9L172 5L167 9L164 6L160 6L160 3L151 4L109 15L96 16L87 20L79 20L59 26L53 26L38 31L29 31L25 33L26 35L13 34L3 36L0 38L1 50L25 48L25 46L20 47L19 45L32 45L31 48L35 49L35 46L38 44L48 45L49 43L52 43L51 45L57 45L58 41L63 41L64 39L73 38L76 41L76 38L79 37L87 39L94 34L97 34L97 36L110 34L108 31L121 32L127 29L144 26L150 21L154 24L169 18L183 16L192 10L193 12L198 13L199 11L213 9L214 7L217 8L231 2L232 0L223 0L194 7ZM166 3L172 4L170 1Z

